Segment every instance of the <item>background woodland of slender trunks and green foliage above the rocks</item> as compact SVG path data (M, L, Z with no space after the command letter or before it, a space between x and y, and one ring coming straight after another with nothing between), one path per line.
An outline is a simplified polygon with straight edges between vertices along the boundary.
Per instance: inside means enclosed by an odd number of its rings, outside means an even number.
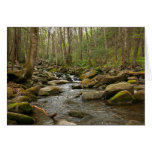
M26 63L30 27L9 27L8 62ZM144 67L144 27L39 27L37 59L73 66Z

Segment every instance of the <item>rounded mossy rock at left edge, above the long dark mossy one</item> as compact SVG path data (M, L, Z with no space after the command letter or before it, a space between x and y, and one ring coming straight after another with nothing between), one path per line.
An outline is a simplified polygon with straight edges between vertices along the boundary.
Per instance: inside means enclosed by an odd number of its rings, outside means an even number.
M28 102L12 103L8 106L8 111L31 114L33 112L33 107Z

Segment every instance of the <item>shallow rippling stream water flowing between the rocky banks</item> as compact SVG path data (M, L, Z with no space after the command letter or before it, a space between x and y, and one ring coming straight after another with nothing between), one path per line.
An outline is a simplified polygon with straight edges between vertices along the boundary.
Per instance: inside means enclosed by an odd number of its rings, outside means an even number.
M66 119L78 125L124 125L129 120L137 120L144 124L144 103L108 106L102 100L82 101L80 94L88 89L72 89L72 85L78 84L79 81L74 80L74 76L70 78L74 82L58 85L63 90L62 93L56 96L41 97L33 104L44 108L49 114L57 112L56 119ZM68 115L71 110L85 112L88 115L83 118L71 117ZM38 124L51 125L53 122L46 117L39 116L36 125Z

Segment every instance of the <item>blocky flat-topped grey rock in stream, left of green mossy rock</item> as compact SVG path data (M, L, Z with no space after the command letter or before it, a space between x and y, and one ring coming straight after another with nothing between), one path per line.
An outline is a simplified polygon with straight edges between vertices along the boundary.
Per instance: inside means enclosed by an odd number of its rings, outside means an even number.
M103 91L85 91L82 92L82 100L97 100L101 99Z

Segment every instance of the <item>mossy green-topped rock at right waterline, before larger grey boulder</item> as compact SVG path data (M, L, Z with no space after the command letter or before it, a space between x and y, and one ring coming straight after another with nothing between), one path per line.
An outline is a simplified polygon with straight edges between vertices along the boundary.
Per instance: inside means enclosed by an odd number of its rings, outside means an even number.
M115 94L107 103L109 105L126 105L133 103L134 100L134 96L129 91L124 90Z

